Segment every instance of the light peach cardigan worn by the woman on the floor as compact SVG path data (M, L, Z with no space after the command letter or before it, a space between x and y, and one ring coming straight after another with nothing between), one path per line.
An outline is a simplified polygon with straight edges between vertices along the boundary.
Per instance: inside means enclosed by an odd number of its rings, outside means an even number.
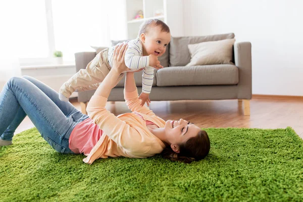
M151 133L146 127L145 121L155 123L158 127L164 127L165 121L156 116L148 107L140 106L138 90L126 92L124 98L132 113L115 116L105 109L107 98L93 95L87 105L86 111L95 124L103 130L103 135L92 148L83 162L92 164L98 158L129 157L146 158L160 154L165 144ZM138 115L140 114L144 120Z

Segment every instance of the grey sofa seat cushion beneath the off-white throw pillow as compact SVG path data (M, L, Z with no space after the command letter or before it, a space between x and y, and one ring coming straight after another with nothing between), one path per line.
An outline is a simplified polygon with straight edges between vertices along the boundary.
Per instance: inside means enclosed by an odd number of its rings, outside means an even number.
M239 81L234 65L166 67L156 73L157 86L234 85Z

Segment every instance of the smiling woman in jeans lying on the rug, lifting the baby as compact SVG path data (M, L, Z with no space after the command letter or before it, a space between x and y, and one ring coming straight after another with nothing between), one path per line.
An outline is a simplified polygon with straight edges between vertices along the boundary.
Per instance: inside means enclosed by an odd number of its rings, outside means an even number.
M98 158L146 158L162 153L164 158L189 163L206 157L207 133L188 121L164 121L148 107L140 106L133 72L126 74L124 96L132 113L119 116L105 109L119 75L127 69L127 44L114 52L114 67L91 97L84 115L58 93L38 80L13 77L0 94L0 145L12 143L15 129L29 116L41 136L63 154L84 154L91 164ZM158 68L161 68L159 66Z

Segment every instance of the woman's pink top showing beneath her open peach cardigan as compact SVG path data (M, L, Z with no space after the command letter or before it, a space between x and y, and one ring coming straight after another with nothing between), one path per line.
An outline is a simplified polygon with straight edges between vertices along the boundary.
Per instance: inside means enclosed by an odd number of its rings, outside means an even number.
M141 119L143 117L137 113ZM143 119L144 120L144 119ZM145 121L146 126L154 124L151 121ZM72 130L72 133L69 138L69 148L75 154L84 154L88 155L94 145L98 142L102 136L103 131L98 127L97 124L93 122L92 119L87 118L84 121L78 123L76 127Z

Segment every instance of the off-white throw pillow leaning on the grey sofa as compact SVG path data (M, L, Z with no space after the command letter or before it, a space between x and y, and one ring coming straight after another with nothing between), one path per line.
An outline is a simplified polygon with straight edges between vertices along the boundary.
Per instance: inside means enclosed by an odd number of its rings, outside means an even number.
M190 62L186 66L233 64L234 38L188 44Z

